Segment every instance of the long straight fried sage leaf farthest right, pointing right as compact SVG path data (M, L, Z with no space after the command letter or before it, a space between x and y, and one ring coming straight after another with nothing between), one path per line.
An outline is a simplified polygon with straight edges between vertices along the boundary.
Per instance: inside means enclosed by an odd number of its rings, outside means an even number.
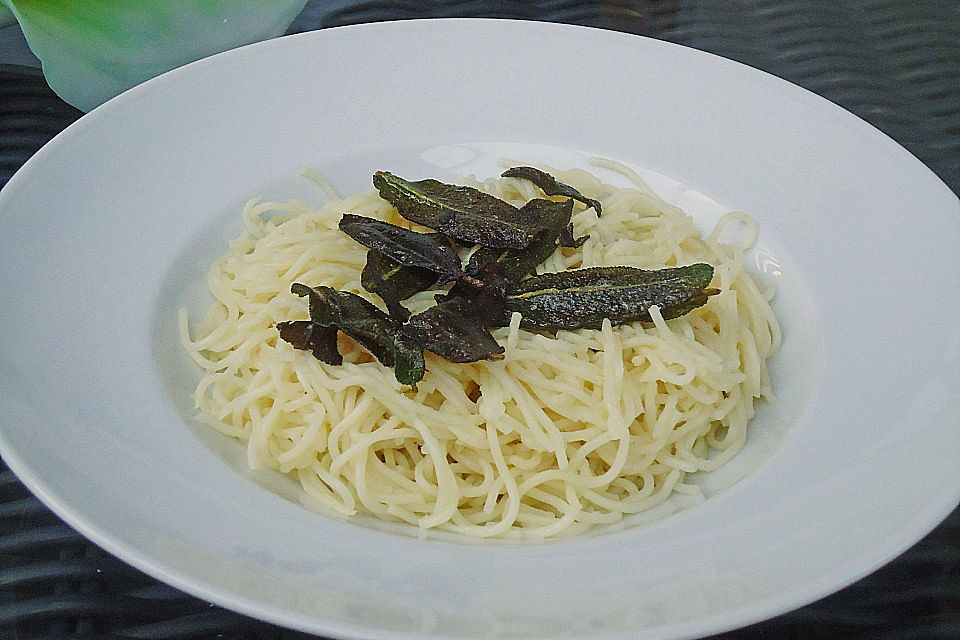
M591 267L545 273L514 287L505 306L520 312L526 327L599 329L604 318L614 325L649 321L654 305L665 317L687 313L706 303L712 278L713 267L703 263L654 271Z

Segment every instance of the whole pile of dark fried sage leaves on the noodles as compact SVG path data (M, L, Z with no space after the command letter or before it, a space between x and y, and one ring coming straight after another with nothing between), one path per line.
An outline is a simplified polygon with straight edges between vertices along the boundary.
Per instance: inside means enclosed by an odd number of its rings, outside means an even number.
M428 350L451 362L503 357L490 329L506 325L513 312L529 330L597 329L650 322L656 305L666 319L706 304L719 293L708 285L713 267L698 263L668 269L591 267L531 276L558 247L579 247L573 201L593 207L587 198L548 173L514 167L505 177L524 178L555 201L535 198L515 207L472 187L436 180L408 181L378 171L373 184L401 216L436 233L419 233L353 214L340 229L369 247L361 274L364 289L379 296L389 314L364 298L330 287L295 283L291 291L309 299L310 319L281 322L280 337L319 360L339 365L337 332L342 331L373 356L394 367L397 380L416 388L423 378ZM452 242L476 245L466 267ZM402 302L434 287L437 304L413 315Z

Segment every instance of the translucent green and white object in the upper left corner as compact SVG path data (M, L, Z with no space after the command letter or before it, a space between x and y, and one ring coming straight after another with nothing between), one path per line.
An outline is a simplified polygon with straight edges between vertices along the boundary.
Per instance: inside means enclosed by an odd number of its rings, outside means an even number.
M89 111L165 71L281 35L306 0L0 0L47 82Z

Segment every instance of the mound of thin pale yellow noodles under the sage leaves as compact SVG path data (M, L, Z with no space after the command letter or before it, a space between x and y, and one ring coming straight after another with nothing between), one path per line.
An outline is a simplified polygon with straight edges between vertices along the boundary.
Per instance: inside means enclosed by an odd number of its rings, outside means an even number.
M703 237L682 210L635 174L619 188L581 171L555 172L602 203L577 204L578 249L559 249L538 272L707 262L720 289L687 315L556 335L494 331L499 361L454 364L427 354L417 391L341 335L343 365L280 340L275 325L308 317L293 282L352 291L366 249L337 228L344 213L410 227L370 189L314 208L250 201L246 231L210 268L215 303L197 327L181 312L185 349L203 369L199 419L239 438L251 468L292 475L322 512L377 518L474 537L570 535L645 511L674 493L697 495L689 474L727 462L748 437L754 403L770 398L767 358L780 331L766 295L743 268L756 239L744 214ZM470 184L513 204L542 197L531 183ZM746 237L720 244L736 222ZM429 307L432 292L407 305Z

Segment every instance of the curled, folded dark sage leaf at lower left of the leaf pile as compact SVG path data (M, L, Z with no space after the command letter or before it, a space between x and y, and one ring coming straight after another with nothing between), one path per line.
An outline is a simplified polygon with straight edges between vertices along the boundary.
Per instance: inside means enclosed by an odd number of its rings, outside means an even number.
M297 282L290 290L309 298L311 324L323 329L339 329L363 345L386 366L398 365L395 374L397 380L403 384L416 385L423 378L422 349L415 341L402 334L397 323L376 305L354 293L335 291L330 287L308 287ZM302 326L286 331L288 335L292 332L306 333ZM284 337L282 331L281 337ZM309 340L301 340L300 343L310 344ZM293 342L291 344L302 348ZM419 356L416 354L417 350L420 350Z

